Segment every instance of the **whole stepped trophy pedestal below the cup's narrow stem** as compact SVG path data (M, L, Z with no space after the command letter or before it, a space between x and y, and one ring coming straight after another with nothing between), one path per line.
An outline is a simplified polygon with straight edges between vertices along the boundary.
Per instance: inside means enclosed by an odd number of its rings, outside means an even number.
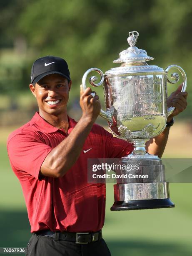
M144 151L140 148L140 152ZM165 166L158 156L131 154L120 162L134 169L116 171L121 178L114 185L112 211L175 207L170 200L169 183L165 182Z

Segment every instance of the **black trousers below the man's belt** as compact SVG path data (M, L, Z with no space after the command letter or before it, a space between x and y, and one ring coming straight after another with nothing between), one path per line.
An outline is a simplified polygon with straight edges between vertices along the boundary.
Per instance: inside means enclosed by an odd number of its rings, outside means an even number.
M56 241L52 237L32 234L27 245L26 256L111 256L110 250L101 238L92 243Z

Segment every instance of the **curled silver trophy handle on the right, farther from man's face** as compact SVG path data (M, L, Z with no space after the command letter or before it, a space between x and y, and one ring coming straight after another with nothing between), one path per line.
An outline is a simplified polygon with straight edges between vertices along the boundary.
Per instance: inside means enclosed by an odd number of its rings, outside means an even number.
M182 86L181 92L185 92L186 87L187 87L187 76L186 76L186 74L185 74L185 71L184 71L180 66L177 66L177 65L170 65L169 67L167 67L167 68L165 69L165 72L168 73L168 71L169 71L172 67L178 69L178 70L181 72L182 77L183 77L183 86ZM171 84L175 84L175 83L177 83L177 82L179 81L180 76L179 76L179 74L177 74L177 73L173 73L173 74L171 74L171 79L172 79L172 80L170 80L170 79L168 78L168 76L167 76L167 81L168 81L169 83L171 83ZM175 107L170 107L170 108L168 108L168 109L167 109L167 117L168 117L169 115L171 115L174 110L175 110Z

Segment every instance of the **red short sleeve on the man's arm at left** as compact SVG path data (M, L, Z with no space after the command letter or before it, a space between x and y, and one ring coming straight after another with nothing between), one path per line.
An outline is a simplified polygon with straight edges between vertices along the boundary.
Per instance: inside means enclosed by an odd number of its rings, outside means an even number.
M41 165L51 150L36 134L17 134L7 141L10 163L17 171L27 172L38 180Z

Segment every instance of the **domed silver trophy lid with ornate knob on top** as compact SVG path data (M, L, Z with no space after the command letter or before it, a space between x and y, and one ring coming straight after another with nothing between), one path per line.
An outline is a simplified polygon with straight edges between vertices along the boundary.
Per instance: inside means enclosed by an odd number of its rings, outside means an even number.
M145 50L138 49L135 46L138 36L139 33L137 31L129 32L127 42L130 45L130 47L124 51L121 51L119 59L114 60L114 63L142 62L154 59L152 57L147 56L147 52Z

